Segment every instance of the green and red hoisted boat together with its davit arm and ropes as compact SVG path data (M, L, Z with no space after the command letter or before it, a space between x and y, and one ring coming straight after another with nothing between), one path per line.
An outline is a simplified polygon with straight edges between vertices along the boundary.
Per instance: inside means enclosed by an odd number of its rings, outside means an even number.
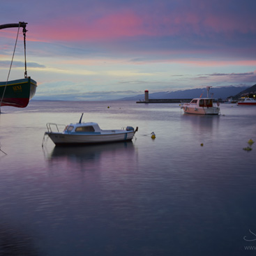
M32 80L31 77L27 77L27 61L26 61L26 22L19 22L14 24L3 24L0 25L0 29L8 29L12 27L18 28L18 33L20 28L23 28L24 36L24 66L25 73L24 78L19 80L10 80L6 82L0 82L0 107L1 106L12 106L12 107L27 107L29 100L36 93L36 81ZM17 40L17 39L16 39ZM15 50L14 50L15 52ZM13 55L14 55L13 52ZM10 68L13 60L11 61ZM9 71L10 74L10 71Z

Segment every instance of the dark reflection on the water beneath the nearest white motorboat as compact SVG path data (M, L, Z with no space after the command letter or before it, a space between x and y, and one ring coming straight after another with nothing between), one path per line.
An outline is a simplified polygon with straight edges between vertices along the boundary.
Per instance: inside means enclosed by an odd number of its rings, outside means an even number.
M49 163L60 165L80 165L80 170L88 170L98 167L121 167L135 153L133 142L116 142L112 144L93 144L88 146L55 146L47 158Z

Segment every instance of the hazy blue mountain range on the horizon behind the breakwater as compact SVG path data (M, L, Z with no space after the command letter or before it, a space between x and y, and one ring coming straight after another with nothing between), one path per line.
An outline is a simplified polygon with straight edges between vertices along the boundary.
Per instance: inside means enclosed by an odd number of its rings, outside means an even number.
M255 88L253 89L253 87ZM209 97L211 98L221 98L225 100L230 96L236 98L239 93L256 91L256 84L254 86L223 86L211 88ZM149 91L149 99L171 99L171 98L199 98L202 94L202 97L207 96L207 91L205 89L189 89L189 90L179 90L179 91L165 91L165 92L157 92L150 93ZM121 100L144 100L144 94L140 94L133 97L121 98Z

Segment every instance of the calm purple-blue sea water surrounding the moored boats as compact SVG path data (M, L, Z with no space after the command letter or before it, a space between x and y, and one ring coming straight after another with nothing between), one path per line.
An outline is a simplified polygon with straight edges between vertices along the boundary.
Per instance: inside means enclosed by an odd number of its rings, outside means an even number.
M243 148L256 142L256 107L220 107L2 107L0 255L255 255L256 143ZM130 143L42 148L46 123L82 112L100 128L139 131Z

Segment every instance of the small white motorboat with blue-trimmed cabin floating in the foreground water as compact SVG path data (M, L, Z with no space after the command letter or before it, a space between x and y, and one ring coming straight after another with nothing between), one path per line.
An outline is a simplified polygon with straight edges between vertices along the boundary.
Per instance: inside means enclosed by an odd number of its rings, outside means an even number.
M131 126L120 130L101 130L98 123L82 123L82 116L79 123L70 123L63 132L59 132L57 123L47 123L47 132L45 132L45 135L48 135L55 145L64 146L126 142L133 140L133 136L138 130L138 128L134 129ZM53 131L53 129L57 130L57 132Z

